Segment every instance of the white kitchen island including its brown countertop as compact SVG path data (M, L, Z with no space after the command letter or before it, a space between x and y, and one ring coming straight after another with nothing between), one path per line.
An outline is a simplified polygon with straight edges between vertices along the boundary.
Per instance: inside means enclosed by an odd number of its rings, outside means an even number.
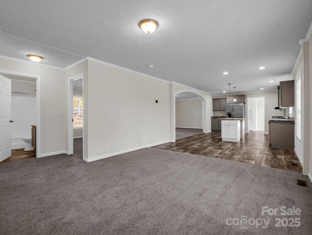
M245 137L246 118L220 118L222 141L238 142Z

